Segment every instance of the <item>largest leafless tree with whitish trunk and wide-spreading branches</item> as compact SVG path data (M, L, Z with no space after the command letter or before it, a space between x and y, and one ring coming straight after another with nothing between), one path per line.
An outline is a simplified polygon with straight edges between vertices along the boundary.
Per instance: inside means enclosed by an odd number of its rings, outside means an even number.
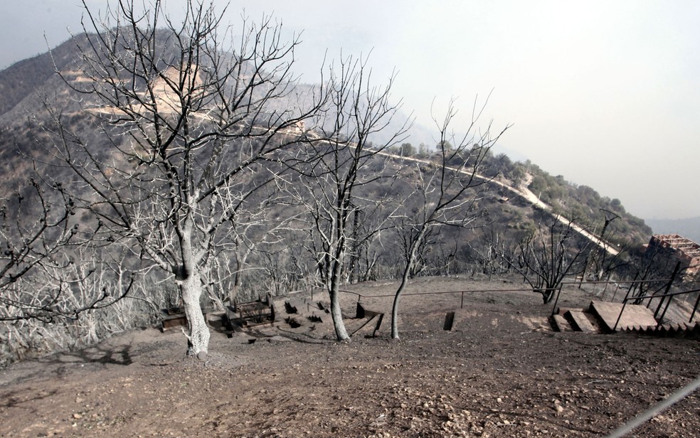
M89 32L75 38L80 60L58 74L83 96L83 114L102 137L92 144L71 132L51 105L53 124L44 127L55 158L77 176L77 202L99 220L95 236L169 274L188 319L188 354L203 356L203 272L245 200L272 180L260 162L303 137L320 102L312 91L296 95L299 39L282 41L272 18L229 28L223 11L188 0L176 23L163 3L139 11L116 0L97 16L83 1Z

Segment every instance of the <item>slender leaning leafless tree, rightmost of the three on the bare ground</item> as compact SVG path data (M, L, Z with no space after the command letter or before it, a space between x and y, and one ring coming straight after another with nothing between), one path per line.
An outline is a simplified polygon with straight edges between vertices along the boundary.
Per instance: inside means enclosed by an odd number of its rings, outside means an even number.
M401 282L396 289L391 309L391 337L398 339L398 308L401 294L414 274L416 262L425 249L428 237L443 225L468 228L479 218L479 188L489 178L479 175L491 147L507 129L491 134L489 124L479 132L479 116L484 106L474 105L472 122L465 134L456 137L450 131L457 110L450 102L441 122L434 117L439 141L437 159L431 164L418 163L418 178L413 199L405 205L415 205L397 217L398 230L405 240L404 265Z

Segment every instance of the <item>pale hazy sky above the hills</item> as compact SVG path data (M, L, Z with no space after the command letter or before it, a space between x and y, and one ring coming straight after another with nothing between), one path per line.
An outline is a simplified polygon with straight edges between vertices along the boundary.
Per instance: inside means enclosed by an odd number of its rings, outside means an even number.
M393 96L428 126L433 100L442 117L456 97L465 124L493 90L484 121L513 124L503 146L641 218L700 216L700 1L232 1L227 21L243 9L303 31L305 82L326 50L371 53L373 78L396 69ZM44 33L68 39L81 14L78 0L0 0L0 68L45 52Z

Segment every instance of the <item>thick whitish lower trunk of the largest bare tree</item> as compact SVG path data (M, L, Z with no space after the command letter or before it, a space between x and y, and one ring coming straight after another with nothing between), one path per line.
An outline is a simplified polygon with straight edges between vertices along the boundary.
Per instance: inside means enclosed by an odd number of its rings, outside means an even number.
M209 346L209 328L206 325L199 298L202 295L202 283L198 274L190 274L180 281L180 293L185 306L187 316L186 333L189 342L187 348L188 356L205 358Z

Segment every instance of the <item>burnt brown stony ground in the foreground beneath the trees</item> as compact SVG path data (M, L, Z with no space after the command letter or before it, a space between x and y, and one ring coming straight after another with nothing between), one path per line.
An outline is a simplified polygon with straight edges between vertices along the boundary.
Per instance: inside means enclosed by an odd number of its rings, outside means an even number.
M350 289L378 295L395 286ZM409 292L517 287L441 278ZM590 299L571 289L560 304ZM344 294L351 330L366 321L351 319L356 300ZM369 324L336 343L321 311L323 322L296 329L213 331L205 362L184 357L179 331L145 329L17 363L0 370L0 436L598 437L698 374L696 339L553 332L551 306L526 292L466 294L460 304L460 294L404 297L398 341L387 318L376 338L366 337ZM451 331L447 311L455 311ZM699 399L686 397L633 436L695 436Z

